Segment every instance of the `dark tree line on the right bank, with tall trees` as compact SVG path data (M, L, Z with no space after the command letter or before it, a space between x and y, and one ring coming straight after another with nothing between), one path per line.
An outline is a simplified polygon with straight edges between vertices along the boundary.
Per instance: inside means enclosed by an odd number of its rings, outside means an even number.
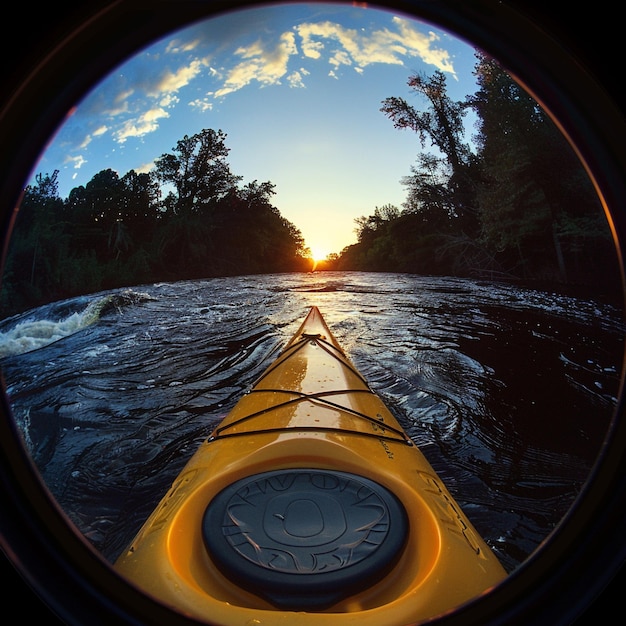
M441 72L409 78L426 106L390 97L381 111L417 133L402 208L356 220L357 243L326 268L607 287L618 264L601 202L575 152L537 102L477 53L478 91L447 94ZM474 147L464 117L473 111Z

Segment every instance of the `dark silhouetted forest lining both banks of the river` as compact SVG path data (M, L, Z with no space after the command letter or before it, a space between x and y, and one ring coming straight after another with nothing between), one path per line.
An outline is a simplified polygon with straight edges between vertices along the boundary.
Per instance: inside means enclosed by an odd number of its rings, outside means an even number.
M357 243L317 269L617 284L607 219L573 149L495 60L476 58L478 90L463 101L435 72L408 79L421 108L382 102L396 129L417 135L406 201L357 218ZM275 186L243 184L226 140L185 136L149 173L106 169L67 198L58 171L37 174L13 227L0 317L115 287L311 270L301 232L272 204Z

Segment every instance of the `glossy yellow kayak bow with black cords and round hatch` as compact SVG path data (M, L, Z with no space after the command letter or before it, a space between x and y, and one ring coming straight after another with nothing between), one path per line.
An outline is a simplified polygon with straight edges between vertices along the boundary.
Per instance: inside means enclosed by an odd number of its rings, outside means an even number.
M115 568L224 626L416 623L506 576L317 307Z

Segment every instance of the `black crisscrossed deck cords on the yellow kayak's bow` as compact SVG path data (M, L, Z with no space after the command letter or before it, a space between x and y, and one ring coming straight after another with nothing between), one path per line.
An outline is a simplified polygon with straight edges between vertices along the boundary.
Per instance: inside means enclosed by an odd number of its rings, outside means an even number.
M331 391L319 391L319 392L316 392L316 393L304 393L304 392L301 392L301 391L295 391L295 390L290 390L290 389L258 389L256 387L256 385L258 385L258 383L260 381L262 381L270 372L272 372L277 366L279 366L285 359L291 357L295 352L300 350L307 343L308 344L315 343L317 346L322 348L325 352L327 352L329 355L331 355L334 359L339 361L344 367L346 367L353 374L355 374L355 376L357 376L359 378L359 380L361 380L363 382L363 384L365 385L366 388L365 389L341 389L341 390L331 390ZM320 333L315 333L315 334L302 333L300 339L298 341L296 341L295 343L293 343L288 348L286 348L285 350L283 350L283 352L276 359L274 365L269 367L263 373L263 375L260 376L257 379L257 381L254 383L253 388L250 389L246 393L247 394L251 394L251 393L283 393L283 394L288 394L288 395L295 395L296 397L295 398L291 398L289 400L286 400L285 402L280 402L278 404L274 404L273 406L267 407L265 409L261 409L260 411L255 411L253 413L245 415L244 417L242 417L242 418L240 418L240 419L230 423L228 426L216 428L213 431L213 433L211 434L211 436L208 438L209 442L215 441L216 439L225 439L225 438L229 438L229 437L249 436L249 435L254 435L254 434L259 434L259 433L284 432L284 431L287 431L287 430L294 430L295 429L295 430L301 430L303 432L320 431L320 432L341 432L342 434L349 433L349 434L353 434L353 435L359 435L359 436L362 436L362 437L373 437L373 438L382 439L382 440L385 440L385 441L393 441L393 442L404 443L404 444L409 445L409 446L414 445L413 441L406 435L406 433L404 433L404 431L402 431L400 429L397 429L397 428L394 428L393 426L391 426L389 424L385 424L385 423L381 422L380 419L377 419L376 417L372 417L371 415L367 415L365 413L361 413L360 411L356 411L355 409L352 409L350 407L345 407L345 406L343 406L341 404L337 404L336 402L331 402L330 400L327 399L328 396L345 395L346 393L366 393L366 394L370 394L370 395L374 395L374 396L376 394L375 394L374 391L372 391L372 389L370 388L369 384L367 383L365 378L363 378L361 373L358 370L356 370L346 360L345 354L341 350L338 350L331 343L326 341L324 339L324 337ZM267 413L271 413L272 411L276 411L278 409L281 409L281 408L286 407L286 406L290 406L292 404L298 404L299 402L303 402L303 401L317 402L319 404L328 406L330 408L337 409L337 410L343 411L345 413L349 413L350 415L353 415L355 417L359 417L359 418L363 419L364 421L367 421L367 422L369 422L371 424L375 424L377 427L381 428L383 431L390 431L391 433L393 433L393 435L387 435L384 432L367 433L367 432L362 432L362 431L359 431L359 430L348 430L348 431L346 431L345 429L341 429L341 428L332 428L332 427L325 427L325 426L283 426L283 427L279 427L279 428L263 428L263 429L252 430L252 431L248 430L248 431L239 432L239 433L232 433L232 432L229 433L229 432L226 432L228 429L236 427L236 426L242 424L243 422L247 422L247 421L249 421L251 419L254 419L255 417L259 417L261 415L266 415Z

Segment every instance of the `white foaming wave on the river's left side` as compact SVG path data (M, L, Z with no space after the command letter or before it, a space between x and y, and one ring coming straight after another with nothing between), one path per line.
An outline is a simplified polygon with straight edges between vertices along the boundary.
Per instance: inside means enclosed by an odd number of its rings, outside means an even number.
M0 330L0 359L38 350L95 324L106 313L148 300L154 298L128 289L98 296L80 310L68 312L67 306L63 306L61 316L54 307L38 310L49 317L33 318L32 313L16 316L9 320L5 330ZM84 302L84 298L74 301L76 306Z

